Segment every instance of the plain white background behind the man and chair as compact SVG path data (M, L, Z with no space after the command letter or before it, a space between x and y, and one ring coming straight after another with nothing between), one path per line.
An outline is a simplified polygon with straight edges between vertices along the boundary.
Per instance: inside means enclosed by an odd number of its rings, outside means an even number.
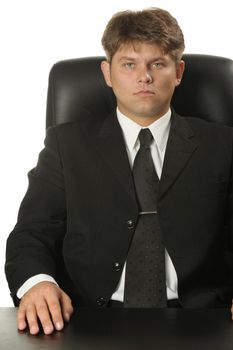
M113 13L157 6L183 29L186 52L233 58L231 1L0 0L0 306L12 306L5 243L45 135L48 73L59 60L103 55Z

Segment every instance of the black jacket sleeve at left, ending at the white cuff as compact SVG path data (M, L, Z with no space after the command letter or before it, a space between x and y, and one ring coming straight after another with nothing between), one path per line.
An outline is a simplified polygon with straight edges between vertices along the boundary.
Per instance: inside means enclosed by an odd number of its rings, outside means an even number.
M63 167L55 128L48 129L45 147L28 178L18 221L6 246L5 271L15 304L16 292L28 278L41 273L55 278L66 232Z

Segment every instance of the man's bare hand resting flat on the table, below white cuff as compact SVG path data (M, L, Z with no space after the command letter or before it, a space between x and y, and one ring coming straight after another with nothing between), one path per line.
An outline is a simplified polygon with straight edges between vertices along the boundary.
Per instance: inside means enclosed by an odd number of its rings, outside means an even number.
M64 320L69 321L73 307L68 295L52 282L40 282L30 288L22 297L17 313L19 330L27 325L31 334L39 332L38 319L45 334L51 334L54 329L60 331Z

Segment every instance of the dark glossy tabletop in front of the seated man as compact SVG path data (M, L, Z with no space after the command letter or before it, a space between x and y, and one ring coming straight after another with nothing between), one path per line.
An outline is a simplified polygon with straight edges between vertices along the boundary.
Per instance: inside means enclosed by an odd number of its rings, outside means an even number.
M61 332L19 332L16 309L0 308L1 350L233 350L227 309L87 309Z

